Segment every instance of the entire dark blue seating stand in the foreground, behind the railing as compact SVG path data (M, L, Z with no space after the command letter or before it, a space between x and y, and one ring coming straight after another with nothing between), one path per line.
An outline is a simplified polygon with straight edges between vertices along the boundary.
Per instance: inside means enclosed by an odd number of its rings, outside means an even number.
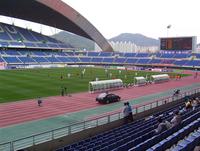
M154 113L148 119L142 118L130 124L122 125L121 127L100 133L85 140L66 145L57 149L56 151L166 150L171 148L189 133L198 129L200 125L200 107L198 107L195 110L189 110L182 113L182 123L180 125L165 130L162 133L155 134L154 130L158 125L156 117L162 117L162 119L170 121L173 116L172 112L180 106L183 107L184 104L179 104L165 111ZM186 143L182 146L178 144L177 146L179 148L181 146L182 148L194 149L194 147L197 145L197 140L199 140L199 135L200 134L198 133L198 135L196 134L195 138L193 137L190 139L190 142L193 142L191 143L193 146L188 146L187 144L189 143Z

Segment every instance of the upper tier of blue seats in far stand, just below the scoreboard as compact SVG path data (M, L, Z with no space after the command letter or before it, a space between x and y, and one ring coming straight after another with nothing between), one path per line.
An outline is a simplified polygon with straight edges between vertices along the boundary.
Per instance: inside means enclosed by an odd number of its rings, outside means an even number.
M43 44L45 45L45 44ZM50 44L48 44L50 45ZM51 44L53 47L53 44ZM103 57L114 57L114 58L152 58L156 56L157 59L189 59L191 56L194 56L196 58L200 58L200 54L162 54L162 53L156 53L156 54L150 54L150 53L116 53L116 52L92 52L92 51L83 51L83 52L51 52L51 51L21 51L21 50L0 50L0 54L5 55L24 55L24 54L30 54L30 55L38 55L38 56L48 56L48 55L67 55L67 56L88 56L88 57L96 57L96 58L103 58Z

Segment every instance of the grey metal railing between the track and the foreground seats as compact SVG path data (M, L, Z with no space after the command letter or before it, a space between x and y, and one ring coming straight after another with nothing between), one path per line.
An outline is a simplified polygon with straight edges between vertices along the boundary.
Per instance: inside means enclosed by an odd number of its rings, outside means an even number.
M181 93L179 96L165 97L156 101L142 104L134 108L133 114L141 113L141 112L150 110L152 108L161 106L163 104L167 104L167 103L179 100L181 98L184 98L185 96L190 96L199 92L200 92L200 88L197 88L191 91ZM108 115L97 117L95 119L90 119L83 122L74 123L74 124L71 124L62 128L54 129L51 131L34 134L31 136L13 140L10 142L0 143L0 151L16 151L19 149L31 147L37 144L41 144L47 141L52 141L54 139L67 136L69 134L77 133L89 128L94 128L103 124L108 124L110 122L113 122L122 118L123 118L123 114L120 111L114 112Z

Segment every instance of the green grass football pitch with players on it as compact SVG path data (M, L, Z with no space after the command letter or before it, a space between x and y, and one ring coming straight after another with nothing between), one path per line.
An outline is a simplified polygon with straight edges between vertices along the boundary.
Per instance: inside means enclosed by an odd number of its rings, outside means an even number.
M108 69L106 74L105 69L102 68L85 69L83 77L81 77L83 68L2 70L0 71L0 103L37 98L38 96L60 95L62 87L67 87L68 93L88 91L89 81L96 77L99 80L120 78L124 83L132 83L135 72L137 72L137 76L144 77L160 74L125 70L122 70L120 74L118 70L114 69ZM69 73L71 74L70 78L67 77ZM107 76L110 73L112 73L112 77Z

